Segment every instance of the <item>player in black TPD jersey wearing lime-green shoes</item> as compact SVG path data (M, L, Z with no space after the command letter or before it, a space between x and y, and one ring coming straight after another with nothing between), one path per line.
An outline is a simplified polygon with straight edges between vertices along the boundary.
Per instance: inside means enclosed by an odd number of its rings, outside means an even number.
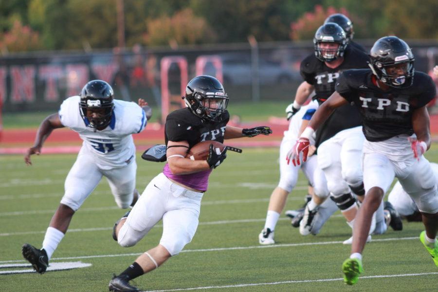
M355 219L351 255L342 266L348 285L364 271L362 252L371 218L394 177L421 212L425 231L420 241L438 266L437 181L423 156L431 144L425 106L435 94L429 75L414 75L409 46L398 37L382 37L371 48L370 68L342 73L336 91L318 108L295 145L292 159L306 160L311 135L333 110L352 102L360 111L366 138L362 159L366 195Z

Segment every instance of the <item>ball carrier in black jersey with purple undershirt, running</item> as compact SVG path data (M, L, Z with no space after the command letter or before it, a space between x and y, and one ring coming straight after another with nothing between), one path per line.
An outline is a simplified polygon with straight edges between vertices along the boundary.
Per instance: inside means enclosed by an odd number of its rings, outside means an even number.
M114 225L113 238L119 245L135 245L163 220L160 243L137 257L124 272L110 281L110 291L139 291L129 281L148 273L170 256L183 250L198 227L201 199L213 168L226 158L226 148L216 152L210 145L207 160L185 158L187 150L201 141L269 135L269 127L227 126L228 96L211 76L197 76L186 87L186 108L171 112L165 123L167 163L163 172L146 186L132 210Z

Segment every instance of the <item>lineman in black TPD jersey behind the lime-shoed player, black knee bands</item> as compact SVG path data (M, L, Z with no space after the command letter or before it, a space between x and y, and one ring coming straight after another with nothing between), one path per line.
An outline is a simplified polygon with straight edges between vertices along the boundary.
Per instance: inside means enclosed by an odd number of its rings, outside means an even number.
M318 28L313 43L315 53L301 62L300 73L305 82L304 86L300 85L302 88L298 88L295 99L306 100L314 89L316 94L313 98L321 105L335 91L339 75L347 69L367 68L368 56L349 48L344 30L332 22ZM306 121L303 125L307 125L314 111L304 116ZM349 104L335 110L324 126L316 131L318 167L327 179L330 199L338 205L351 227L358 209L352 192L359 197L365 194L360 167L364 139L359 111ZM293 148L288 153L288 161L292 153ZM316 234L314 226L321 226L320 222L314 220L322 217L315 215L328 193L315 192L315 195L307 204L300 222L302 235ZM381 217L380 221L384 222L383 210Z

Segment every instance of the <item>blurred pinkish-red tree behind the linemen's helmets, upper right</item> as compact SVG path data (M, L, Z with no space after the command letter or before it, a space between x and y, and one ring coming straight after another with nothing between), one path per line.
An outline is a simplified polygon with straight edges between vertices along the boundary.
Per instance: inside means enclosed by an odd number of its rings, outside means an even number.
M349 13L344 8L337 10L329 6L324 9L321 5L315 5L313 12L306 12L297 21L291 23L290 37L292 40L313 39L316 30L323 25L324 20L334 13L342 13L349 17Z

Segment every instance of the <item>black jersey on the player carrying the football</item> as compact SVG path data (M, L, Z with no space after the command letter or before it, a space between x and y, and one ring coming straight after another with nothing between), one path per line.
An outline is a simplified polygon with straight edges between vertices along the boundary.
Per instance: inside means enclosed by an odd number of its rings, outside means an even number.
M166 118L165 142L187 141L189 147L201 141L216 140L223 143L223 135L230 114L224 112L219 122L210 122L195 115L189 108L172 111Z

